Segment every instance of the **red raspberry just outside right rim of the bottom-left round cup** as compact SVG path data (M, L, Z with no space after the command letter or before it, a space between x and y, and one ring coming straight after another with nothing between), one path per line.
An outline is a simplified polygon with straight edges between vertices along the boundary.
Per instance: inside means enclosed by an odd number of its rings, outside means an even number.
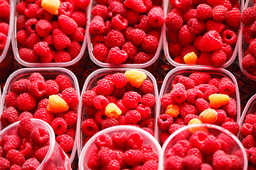
M64 152L72 151L74 146L73 137L70 137L69 135L60 135L56 137L56 141L58 142L58 144Z

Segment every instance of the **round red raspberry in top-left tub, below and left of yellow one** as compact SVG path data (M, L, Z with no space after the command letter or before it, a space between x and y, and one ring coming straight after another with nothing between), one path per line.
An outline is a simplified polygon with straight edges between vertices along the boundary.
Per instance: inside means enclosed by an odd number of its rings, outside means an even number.
M51 29L52 26L47 20L41 19L36 23L36 33L41 37L45 37L46 35L48 35Z

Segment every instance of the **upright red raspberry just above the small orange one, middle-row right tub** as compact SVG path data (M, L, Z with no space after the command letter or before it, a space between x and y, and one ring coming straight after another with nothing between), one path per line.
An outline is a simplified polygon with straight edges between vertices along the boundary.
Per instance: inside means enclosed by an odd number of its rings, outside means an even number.
M181 104L186 101L187 93L183 84L175 84L174 89L171 90L171 98L175 103Z

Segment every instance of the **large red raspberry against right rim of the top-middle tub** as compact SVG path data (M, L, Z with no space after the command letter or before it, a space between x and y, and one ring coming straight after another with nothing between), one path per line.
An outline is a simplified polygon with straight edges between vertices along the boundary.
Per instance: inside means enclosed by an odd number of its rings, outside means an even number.
M148 14L148 21L150 26L159 28L164 24L164 11L160 6L151 8Z

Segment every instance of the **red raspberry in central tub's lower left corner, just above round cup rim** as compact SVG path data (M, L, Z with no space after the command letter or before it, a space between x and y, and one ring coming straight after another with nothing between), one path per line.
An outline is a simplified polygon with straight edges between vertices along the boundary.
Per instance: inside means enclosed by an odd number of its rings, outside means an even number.
M100 125L94 119L87 119L82 123L82 132L89 137L92 137L100 130Z

